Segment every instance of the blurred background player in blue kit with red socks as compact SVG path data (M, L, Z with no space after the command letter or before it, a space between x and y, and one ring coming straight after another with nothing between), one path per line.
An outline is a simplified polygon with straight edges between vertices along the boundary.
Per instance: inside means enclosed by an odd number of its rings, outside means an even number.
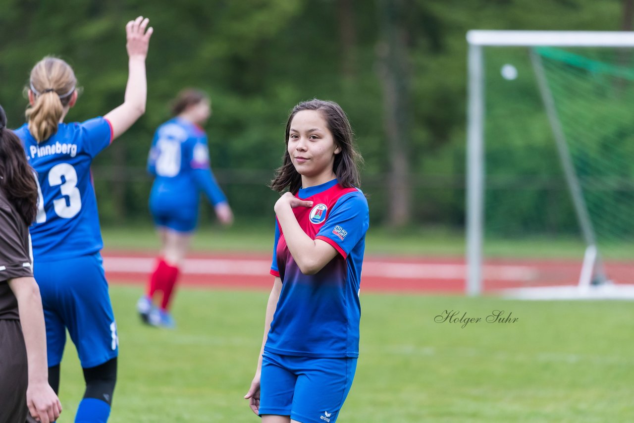
M174 118L157 129L148 157L154 184L150 212L161 240L160 255L150 275L146 294L137 309L143 322L174 327L169 306L179 267L188 251L198 221L198 198L205 193L223 225L230 225L233 212L209 166L207 136L202 125L211 114L207 94L185 89L172 105ZM158 292L162 292L158 306Z

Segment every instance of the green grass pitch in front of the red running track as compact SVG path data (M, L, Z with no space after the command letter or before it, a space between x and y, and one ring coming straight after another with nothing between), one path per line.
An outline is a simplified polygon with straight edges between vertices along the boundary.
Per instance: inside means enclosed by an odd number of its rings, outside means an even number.
M111 287L120 356L110 422L259 421L242 396L268 293L181 289L176 330L142 325L140 294ZM358 370L341 423L634 421L631 303L361 296ZM446 309L483 322L434 322ZM495 309L519 320L485 323ZM73 421L82 390L69 342L59 423Z

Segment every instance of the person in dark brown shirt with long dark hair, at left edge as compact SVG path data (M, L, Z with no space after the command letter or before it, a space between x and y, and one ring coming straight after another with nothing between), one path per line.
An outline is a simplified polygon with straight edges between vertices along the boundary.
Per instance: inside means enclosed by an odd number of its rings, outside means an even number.
M37 185L0 106L0 423L53 422L61 403L48 384L42 299L33 278L29 225Z

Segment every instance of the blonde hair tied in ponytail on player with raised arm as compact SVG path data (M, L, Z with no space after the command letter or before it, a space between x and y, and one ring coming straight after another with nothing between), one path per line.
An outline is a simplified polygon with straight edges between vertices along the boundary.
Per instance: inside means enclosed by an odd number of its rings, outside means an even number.
M31 70L29 89L34 105L27 108L29 132L38 143L57 132L64 107L75 91L77 79L68 63L46 56Z

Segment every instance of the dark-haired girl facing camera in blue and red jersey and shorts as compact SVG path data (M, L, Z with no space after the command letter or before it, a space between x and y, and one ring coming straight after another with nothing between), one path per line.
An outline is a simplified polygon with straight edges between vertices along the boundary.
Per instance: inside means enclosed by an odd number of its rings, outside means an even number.
M334 423L359 355L359 282L368 202L361 155L343 110L299 103L288 117L287 151L271 188L275 277L256 376L245 398L263 423Z

